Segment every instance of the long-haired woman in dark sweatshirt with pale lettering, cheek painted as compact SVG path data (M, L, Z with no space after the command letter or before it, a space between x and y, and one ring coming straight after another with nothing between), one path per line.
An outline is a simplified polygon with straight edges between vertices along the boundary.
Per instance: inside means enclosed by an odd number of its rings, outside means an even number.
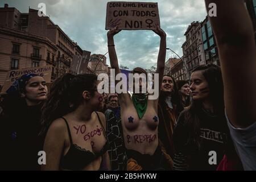
M216 170L224 154L232 152L224 114L221 69L200 65L191 74L192 103L174 130L177 170Z

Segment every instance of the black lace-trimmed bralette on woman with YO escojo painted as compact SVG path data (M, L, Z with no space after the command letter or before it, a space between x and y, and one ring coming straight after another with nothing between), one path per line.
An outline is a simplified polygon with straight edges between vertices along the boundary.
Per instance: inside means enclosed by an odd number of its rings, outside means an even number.
M101 123L101 119L98 115L98 113L96 112L97 117L98 117L98 121L101 124L101 127L103 129L103 133L105 135L106 138L106 133L104 130L104 127L102 126ZM63 118L63 117L61 117ZM105 154L105 152L108 150L109 148L109 142L108 140L106 141L104 147L101 148L100 152L91 152L89 150L86 150L85 148L81 148L79 146L77 146L77 144L73 144L73 140L71 137L71 132L68 126L68 122L65 118L63 118L67 128L68 128L68 135L69 135L69 140L71 143L71 146L67 152L66 155L61 156L60 159L60 168L61 169L70 169L70 170L79 170L79 169L83 169L85 166L87 166L89 163L93 162L93 160L97 159L98 157L102 156Z

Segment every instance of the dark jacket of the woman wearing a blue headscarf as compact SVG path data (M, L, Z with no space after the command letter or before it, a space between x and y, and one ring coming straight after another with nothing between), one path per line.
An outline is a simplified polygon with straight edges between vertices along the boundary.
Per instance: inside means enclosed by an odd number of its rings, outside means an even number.
M40 170L38 152L43 150L40 131L43 104L27 106L17 98L8 102L0 118L0 169Z

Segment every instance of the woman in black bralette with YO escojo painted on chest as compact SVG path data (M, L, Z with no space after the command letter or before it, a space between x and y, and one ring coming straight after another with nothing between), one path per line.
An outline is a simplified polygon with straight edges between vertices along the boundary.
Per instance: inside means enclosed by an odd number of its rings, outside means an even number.
M110 169L103 96L97 76L66 73L51 86L43 106L42 132L46 134L44 170Z

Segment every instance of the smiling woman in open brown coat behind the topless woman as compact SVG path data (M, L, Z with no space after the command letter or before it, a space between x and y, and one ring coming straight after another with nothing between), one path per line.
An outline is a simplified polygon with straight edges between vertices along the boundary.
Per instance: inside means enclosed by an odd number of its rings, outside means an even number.
M176 125L176 119L183 110L175 79L170 75L164 75L158 101L158 137L164 155L172 167L174 158L174 142L172 134Z

